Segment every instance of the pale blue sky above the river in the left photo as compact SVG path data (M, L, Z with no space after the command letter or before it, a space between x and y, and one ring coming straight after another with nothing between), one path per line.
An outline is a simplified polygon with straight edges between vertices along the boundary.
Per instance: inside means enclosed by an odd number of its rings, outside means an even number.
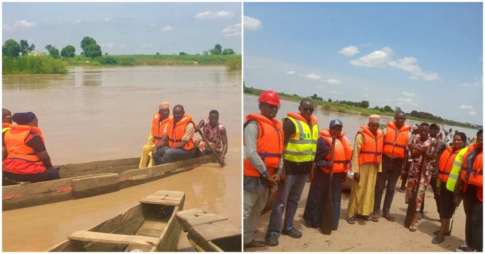
M84 36L103 54L201 54L216 44L240 54L241 3L2 3L2 42L80 54Z

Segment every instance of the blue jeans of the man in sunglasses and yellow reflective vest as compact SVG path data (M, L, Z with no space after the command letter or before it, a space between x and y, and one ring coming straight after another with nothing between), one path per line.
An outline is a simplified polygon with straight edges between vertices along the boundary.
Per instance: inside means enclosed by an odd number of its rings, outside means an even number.
M300 200L308 179L308 173L302 175L286 175L286 182L278 185L275 204L271 211L270 223L266 234L279 235L281 230L281 218L286 206L285 222L283 230L288 231L293 228L293 218L295 217L298 201Z

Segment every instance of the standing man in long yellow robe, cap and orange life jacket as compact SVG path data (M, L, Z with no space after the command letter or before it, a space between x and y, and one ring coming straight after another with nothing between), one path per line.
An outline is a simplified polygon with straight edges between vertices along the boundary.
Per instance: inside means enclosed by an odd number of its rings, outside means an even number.
M367 126L360 125L352 154L354 180L349 198L347 222L356 223L356 217L370 220L374 209L374 190L377 173L382 172L382 131L379 115L371 115Z

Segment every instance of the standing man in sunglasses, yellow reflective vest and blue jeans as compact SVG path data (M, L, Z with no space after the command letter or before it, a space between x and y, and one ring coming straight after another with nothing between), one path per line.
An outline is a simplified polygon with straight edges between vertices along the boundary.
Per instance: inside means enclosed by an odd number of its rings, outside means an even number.
M270 223L266 231L266 244L269 246L278 245L280 232L292 238L302 237L302 233L293 227L293 218L305 183L307 179L311 181L319 129L318 120L312 116L313 101L301 100L298 110L299 113L288 113L287 117L282 120L285 146L284 177L278 185ZM309 178L308 175L310 175ZM281 230L283 212L285 212L285 222Z

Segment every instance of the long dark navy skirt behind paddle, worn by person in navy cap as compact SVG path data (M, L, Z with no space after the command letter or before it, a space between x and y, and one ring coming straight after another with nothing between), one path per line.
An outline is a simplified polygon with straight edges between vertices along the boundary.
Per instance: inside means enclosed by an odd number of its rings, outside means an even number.
M342 199L342 179L345 172L334 173L332 176L332 203L334 207L333 228L339 227L340 219L340 202ZM319 167L315 167L313 179L311 180L310 190L308 191L307 204L303 219L309 225L320 226L322 224L323 204L327 199L328 177L330 175L323 172Z

